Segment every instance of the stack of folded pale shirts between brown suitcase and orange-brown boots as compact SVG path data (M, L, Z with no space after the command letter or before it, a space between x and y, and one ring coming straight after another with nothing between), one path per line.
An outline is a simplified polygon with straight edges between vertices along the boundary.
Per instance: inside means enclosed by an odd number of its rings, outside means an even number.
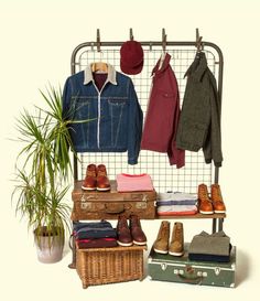
M197 213L197 195L183 192L159 193L158 215L193 215Z

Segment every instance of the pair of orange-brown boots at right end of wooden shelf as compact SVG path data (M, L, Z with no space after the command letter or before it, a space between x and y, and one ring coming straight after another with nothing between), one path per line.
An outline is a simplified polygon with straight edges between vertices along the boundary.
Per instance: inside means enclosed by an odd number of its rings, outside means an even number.
M218 184L212 185L210 198L207 186L205 184L198 185L198 211L202 214L226 213L226 206L223 201L220 186Z

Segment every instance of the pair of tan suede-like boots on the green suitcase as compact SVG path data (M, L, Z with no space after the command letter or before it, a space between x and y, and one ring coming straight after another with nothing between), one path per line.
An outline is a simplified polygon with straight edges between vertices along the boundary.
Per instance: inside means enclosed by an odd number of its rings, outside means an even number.
M155 252L170 254L173 256L182 256L184 254L184 234L183 224L174 223L171 243L170 239L170 222L163 221L158 233L158 238L153 244Z

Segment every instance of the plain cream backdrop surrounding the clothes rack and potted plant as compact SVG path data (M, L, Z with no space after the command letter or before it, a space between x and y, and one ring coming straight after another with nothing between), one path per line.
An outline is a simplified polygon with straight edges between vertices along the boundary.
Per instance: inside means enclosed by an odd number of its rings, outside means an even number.
M259 1L247 0L2 0L0 2L1 97L1 300L259 300ZM18 148L14 118L36 104L39 88L63 85L76 45L96 39L124 41L133 28L139 41L195 39L220 46L225 57L220 184L228 207L225 232L238 247L237 288L194 287L132 281L83 290L71 254L56 265L35 258L31 233L11 207L12 172ZM184 222L185 237L210 222ZM153 241L158 222L143 222ZM250 297L249 297L250 294Z

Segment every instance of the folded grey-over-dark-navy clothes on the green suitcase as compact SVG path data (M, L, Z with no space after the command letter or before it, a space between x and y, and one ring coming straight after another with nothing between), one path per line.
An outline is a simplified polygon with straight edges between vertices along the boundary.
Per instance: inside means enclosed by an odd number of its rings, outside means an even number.
M188 259L228 262L230 260L230 238L223 230L212 235L202 232L193 237L188 248Z

